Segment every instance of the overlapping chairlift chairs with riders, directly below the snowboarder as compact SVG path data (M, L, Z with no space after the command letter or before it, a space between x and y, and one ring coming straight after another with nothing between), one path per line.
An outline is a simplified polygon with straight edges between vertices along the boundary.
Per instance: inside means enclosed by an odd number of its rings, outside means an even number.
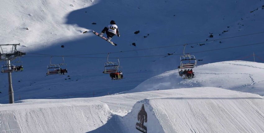
M119 58L117 58L117 62L109 62L109 54L107 55L107 62L104 63L104 71L103 73L109 74L110 77L114 80L123 79L123 67L120 67Z

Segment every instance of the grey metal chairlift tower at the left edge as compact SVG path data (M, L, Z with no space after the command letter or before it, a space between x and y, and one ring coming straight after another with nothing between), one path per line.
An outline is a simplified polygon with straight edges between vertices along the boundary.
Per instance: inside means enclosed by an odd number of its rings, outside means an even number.
M7 70L3 70L2 67L2 73L8 73L8 83L9 83L9 88L8 88L8 96L9 96L9 103L14 103L14 91L12 87L12 77L11 77L11 72L13 72L13 68L11 68L10 61L15 60L17 57L21 57L22 55L25 55L26 53L18 51L16 49L17 45L19 44L0 44L0 61L6 61L6 64L4 65L7 67ZM7 48L5 47L11 47L10 51L7 51ZM12 71L11 71L12 70Z

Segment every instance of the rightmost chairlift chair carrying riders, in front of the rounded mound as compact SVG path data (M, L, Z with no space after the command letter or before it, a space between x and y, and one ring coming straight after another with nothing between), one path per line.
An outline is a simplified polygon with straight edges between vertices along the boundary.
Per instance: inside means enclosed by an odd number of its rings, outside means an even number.
M182 76L184 79L187 79L187 78L194 78L194 74L193 74L193 71L192 69L197 66L197 60L195 59L195 56L194 55L190 55L190 54L185 54L184 51L185 51L185 47L186 47L187 44L184 44L184 49L183 49L183 56L180 56L180 66L178 67L178 72L179 72L179 75ZM181 71L180 71L181 69ZM191 69L191 70L189 70ZM191 71L189 72L190 74L188 74L187 71L184 71L184 70L188 70L188 71Z

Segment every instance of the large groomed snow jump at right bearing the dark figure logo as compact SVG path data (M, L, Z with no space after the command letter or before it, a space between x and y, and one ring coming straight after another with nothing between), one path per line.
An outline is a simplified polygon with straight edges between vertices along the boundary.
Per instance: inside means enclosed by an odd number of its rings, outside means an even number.
M159 92L171 95L139 101L91 133L264 132L264 99L257 94L212 87Z

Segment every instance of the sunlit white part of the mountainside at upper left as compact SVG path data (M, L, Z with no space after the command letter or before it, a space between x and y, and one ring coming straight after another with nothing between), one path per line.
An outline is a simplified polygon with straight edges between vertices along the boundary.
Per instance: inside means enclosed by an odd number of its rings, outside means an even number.
M38 48L40 43L50 45L61 37L76 36L84 28L65 24L66 16L92 4L94 2L85 0L3 0L0 5L1 44L21 43Z

